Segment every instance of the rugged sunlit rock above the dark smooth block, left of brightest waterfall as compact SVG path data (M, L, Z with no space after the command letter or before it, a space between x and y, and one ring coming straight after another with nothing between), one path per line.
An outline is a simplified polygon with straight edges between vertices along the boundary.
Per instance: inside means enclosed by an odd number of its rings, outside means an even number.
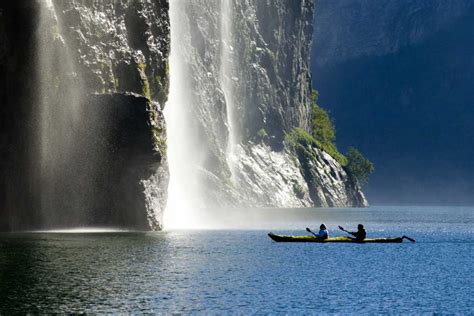
M53 0L87 91L168 93L168 1Z

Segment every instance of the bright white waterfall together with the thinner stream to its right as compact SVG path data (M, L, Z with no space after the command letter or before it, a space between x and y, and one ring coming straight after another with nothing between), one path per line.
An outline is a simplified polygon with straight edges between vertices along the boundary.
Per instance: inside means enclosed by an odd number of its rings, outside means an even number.
M221 169L228 170L225 177L230 182L236 179L232 1L220 1L219 19L209 24L218 34L209 56L195 42L201 36L200 30L194 29L190 20L199 14L195 11L206 7L215 10L212 4L170 2L170 94L165 107L170 185L164 215L166 228L205 226L203 209L214 206L206 197L212 192L209 182L217 178L215 173ZM205 66L199 64L196 55L209 58L215 71L200 77ZM209 124L208 117L212 116L219 122Z

